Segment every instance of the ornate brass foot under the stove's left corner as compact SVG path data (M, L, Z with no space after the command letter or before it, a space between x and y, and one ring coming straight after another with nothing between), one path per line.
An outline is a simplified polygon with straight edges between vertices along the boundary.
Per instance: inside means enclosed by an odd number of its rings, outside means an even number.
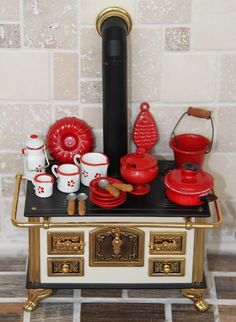
M28 290L28 299L24 304L24 310L27 312L34 311L38 304L45 299L46 297L52 294L51 289L45 288L36 288L36 289L29 289Z

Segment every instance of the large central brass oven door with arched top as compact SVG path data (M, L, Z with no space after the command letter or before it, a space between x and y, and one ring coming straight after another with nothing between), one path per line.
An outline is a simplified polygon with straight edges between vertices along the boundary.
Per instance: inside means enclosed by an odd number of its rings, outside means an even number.
M143 266L144 232L137 228L105 227L89 234L90 266Z

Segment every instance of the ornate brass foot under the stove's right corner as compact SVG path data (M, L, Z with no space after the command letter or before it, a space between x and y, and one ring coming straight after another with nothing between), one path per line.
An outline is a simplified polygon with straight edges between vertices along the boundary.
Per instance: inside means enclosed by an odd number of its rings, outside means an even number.
M206 312L208 310L209 306L204 299L205 289L202 289L202 288L182 289L181 293L183 296L193 301L198 311Z

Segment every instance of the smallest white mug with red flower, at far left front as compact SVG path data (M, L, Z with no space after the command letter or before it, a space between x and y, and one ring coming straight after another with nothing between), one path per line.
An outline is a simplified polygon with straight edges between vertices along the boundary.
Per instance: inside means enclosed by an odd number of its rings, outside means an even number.
M36 174L32 179L36 196L40 198L51 197L53 193L54 177L51 174Z

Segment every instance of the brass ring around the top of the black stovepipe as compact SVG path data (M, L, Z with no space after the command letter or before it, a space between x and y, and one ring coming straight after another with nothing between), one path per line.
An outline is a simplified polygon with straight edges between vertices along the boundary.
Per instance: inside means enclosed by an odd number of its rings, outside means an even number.
M128 14L128 12L122 8L119 7L110 7L107 8L105 10L103 10L102 12L99 13L97 20L96 20L96 29L97 32L99 33L99 35L102 35L102 24L103 22L111 17L118 17L121 18L125 21L126 25L127 25L127 35L129 34L131 28L132 28L132 20L130 15Z

